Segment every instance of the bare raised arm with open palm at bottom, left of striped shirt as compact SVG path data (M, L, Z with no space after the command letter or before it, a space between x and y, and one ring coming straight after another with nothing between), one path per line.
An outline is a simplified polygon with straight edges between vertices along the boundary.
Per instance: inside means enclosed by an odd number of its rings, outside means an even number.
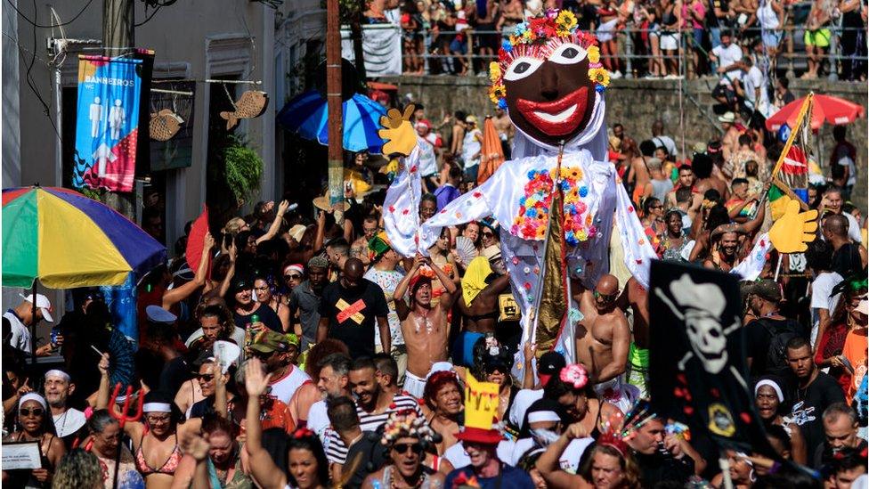
M256 357L245 363L245 389L248 391L247 441L245 450L249 456L251 475L261 487L284 487L287 476L272 460L272 455L263 448L263 427L259 420L259 397L269 387L270 375L264 375L263 366ZM253 422L251 422L253 421Z

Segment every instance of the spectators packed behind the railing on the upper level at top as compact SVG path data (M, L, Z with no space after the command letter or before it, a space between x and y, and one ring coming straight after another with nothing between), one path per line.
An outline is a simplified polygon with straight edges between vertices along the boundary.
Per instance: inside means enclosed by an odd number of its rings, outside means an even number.
M483 74L501 40L548 8L573 12L595 33L613 77L628 74L627 57L635 77L732 77L750 56L767 74L795 57L804 78L866 79L866 6L857 0L375 0L364 19L401 26L404 74ZM726 34L742 51L735 59L715 53L731 50Z

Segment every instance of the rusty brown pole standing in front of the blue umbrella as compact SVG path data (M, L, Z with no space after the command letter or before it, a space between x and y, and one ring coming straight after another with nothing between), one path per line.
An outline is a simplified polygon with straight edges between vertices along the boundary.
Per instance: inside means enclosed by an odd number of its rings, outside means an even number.
M338 0L326 0L326 104L329 124L329 203L344 200L344 128L341 100L341 19ZM343 222L337 209L335 218Z

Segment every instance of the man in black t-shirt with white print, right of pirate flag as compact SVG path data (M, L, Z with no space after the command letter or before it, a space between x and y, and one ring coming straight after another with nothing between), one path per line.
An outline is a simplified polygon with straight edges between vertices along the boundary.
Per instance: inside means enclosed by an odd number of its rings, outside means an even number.
M824 444L822 414L833 403L845 402L845 395L835 379L817 368L806 338L788 341L787 361L792 371L791 419L806 439L806 452L813 454Z

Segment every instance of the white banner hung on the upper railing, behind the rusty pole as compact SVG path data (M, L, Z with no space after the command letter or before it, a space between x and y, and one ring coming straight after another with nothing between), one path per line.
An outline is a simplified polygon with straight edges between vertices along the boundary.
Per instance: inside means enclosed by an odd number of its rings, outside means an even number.
M402 27L395 24L362 26L362 54L369 77L402 74ZM350 30L341 29L341 57L353 61Z

